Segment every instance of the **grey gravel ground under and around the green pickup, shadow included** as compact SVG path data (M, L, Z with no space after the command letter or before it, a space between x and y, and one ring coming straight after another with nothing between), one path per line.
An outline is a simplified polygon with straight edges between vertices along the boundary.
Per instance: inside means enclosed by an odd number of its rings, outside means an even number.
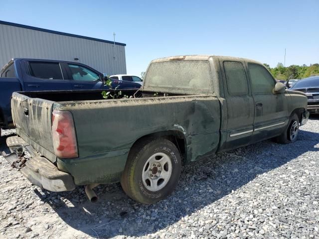
M99 186L96 204L83 187L41 190L0 156L0 238L319 238L319 117L301 129L293 144L264 141L184 167L155 205L120 184Z

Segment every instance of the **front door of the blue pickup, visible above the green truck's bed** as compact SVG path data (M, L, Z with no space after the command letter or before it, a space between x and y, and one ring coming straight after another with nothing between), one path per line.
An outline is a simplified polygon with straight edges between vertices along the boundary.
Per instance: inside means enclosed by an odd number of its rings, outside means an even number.
M73 90L103 89L104 83L98 72L78 64L66 64L69 79L72 81Z

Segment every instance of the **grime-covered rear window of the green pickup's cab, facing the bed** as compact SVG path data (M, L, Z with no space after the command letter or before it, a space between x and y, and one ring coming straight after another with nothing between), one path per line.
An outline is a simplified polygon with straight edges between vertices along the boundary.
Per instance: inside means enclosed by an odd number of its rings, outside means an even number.
M170 92L211 93L212 79L208 61L165 61L152 63L145 77L146 88Z

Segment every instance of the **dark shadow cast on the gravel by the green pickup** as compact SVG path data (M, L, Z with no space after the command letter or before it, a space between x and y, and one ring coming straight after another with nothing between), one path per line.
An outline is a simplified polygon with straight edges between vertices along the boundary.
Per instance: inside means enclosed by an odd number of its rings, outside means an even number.
M95 191L101 198L96 204L88 202L82 187L73 192L38 194L65 223L89 236L145 236L214 202L218 207L219 199L258 175L307 151L319 151L315 147L318 143L319 133L301 130L298 141L292 144L259 142L188 165L173 194L155 205L137 204L124 194L120 184L99 186ZM71 203L66 205L63 199Z

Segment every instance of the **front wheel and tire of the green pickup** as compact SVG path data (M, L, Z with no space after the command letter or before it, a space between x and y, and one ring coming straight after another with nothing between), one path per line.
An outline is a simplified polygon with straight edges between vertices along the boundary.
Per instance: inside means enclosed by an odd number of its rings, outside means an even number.
M295 135L293 135L295 132ZM278 143L287 144L293 143L297 140L299 132L299 118L296 113L290 116L288 126L285 131L276 137Z

